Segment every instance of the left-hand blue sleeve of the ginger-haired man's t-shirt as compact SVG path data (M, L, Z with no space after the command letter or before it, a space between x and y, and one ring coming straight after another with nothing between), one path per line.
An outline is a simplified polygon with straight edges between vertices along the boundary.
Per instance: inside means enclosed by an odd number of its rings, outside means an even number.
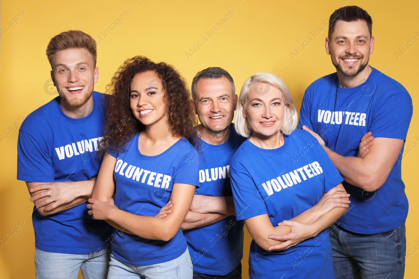
M54 182L54 173L47 146L41 146L34 137L19 131L17 179L27 182Z

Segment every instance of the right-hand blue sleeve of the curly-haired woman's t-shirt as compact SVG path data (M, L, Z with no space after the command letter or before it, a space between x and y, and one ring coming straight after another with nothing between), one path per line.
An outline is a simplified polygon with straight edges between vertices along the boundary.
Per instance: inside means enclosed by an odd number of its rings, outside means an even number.
M191 151L179 161L173 184L190 184L199 188L199 167L201 162L198 155L196 151Z

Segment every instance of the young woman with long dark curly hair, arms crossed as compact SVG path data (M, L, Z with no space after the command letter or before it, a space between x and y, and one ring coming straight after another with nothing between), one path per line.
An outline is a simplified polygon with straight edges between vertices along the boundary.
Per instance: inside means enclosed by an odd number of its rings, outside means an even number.
M135 56L110 90L104 158L88 205L93 219L114 226L108 278L192 278L180 227L199 186L199 159L186 83L171 65Z

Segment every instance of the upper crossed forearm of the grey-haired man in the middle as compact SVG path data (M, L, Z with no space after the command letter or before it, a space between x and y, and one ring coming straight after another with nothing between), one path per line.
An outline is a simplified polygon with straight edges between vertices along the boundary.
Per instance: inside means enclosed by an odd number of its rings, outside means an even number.
M235 215L233 197L194 195L190 211Z

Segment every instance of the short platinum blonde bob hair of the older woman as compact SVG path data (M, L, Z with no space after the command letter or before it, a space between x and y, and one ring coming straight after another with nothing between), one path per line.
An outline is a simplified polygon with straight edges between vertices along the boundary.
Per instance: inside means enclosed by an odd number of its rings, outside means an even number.
M240 95L238 97L239 105L236 112L235 119L235 131L248 138L251 133L251 128L247 118L243 116L243 109L246 105L246 98L250 92L250 88L253 84L267 83L270 84L282 92L282 99L286 106L284 121L282 123L281 131L285 135L290 135L295 130L298 123L297 110L295 109L294 101L292 100L291 92L288 89L285 82L271 73L259 72L246 79L241 87Z

